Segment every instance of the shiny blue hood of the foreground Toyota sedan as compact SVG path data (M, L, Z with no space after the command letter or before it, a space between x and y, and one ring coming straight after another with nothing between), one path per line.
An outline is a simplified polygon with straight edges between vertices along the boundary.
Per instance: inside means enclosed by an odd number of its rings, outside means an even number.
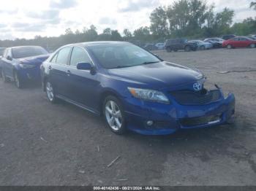
M165 61L128 68L109 69L109 74L127 82L149 86L158 90L195 82L203 78L203 74L200 71Z

